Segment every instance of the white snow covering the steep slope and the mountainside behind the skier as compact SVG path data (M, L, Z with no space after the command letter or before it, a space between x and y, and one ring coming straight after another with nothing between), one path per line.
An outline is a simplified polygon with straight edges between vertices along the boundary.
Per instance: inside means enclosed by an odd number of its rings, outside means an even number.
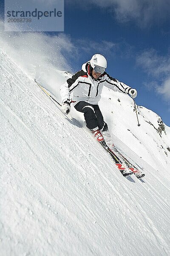
M160 117L138 107L138 127L133 100L103 90L113 143L146 175L125 178L83 116L67 118L2 51L0 83L0 255L169 256L170 128Z

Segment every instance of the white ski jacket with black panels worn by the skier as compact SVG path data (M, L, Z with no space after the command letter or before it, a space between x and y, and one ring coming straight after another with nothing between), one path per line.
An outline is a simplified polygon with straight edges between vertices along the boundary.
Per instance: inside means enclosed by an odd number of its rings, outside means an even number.
M131 89L128 85L119 82L106 72L98 79L94 79L91 75L90 62L87 62L82 65L82 70L75 73L65 84L62 84L60 89L62 103L71 100L71 102L75 104L79 101L85 101L96 105L101 99L104 85L114 91L122 93L128 93Z

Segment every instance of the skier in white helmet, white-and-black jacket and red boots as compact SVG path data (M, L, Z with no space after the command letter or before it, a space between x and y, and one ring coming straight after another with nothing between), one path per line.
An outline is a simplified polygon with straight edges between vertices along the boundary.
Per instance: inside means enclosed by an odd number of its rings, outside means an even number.
M136 89L109 76L105 72L106 68L106 58L101 54L95 54L90 61L82 65L82 70L62 84L60 89L62 111L66 114L70 113L70 104L73 103L77 111L84 113L87 128L101 143L105 142L101 131L108 130L98 105L103 86L113 91L127 93L133 99L137 96Z

